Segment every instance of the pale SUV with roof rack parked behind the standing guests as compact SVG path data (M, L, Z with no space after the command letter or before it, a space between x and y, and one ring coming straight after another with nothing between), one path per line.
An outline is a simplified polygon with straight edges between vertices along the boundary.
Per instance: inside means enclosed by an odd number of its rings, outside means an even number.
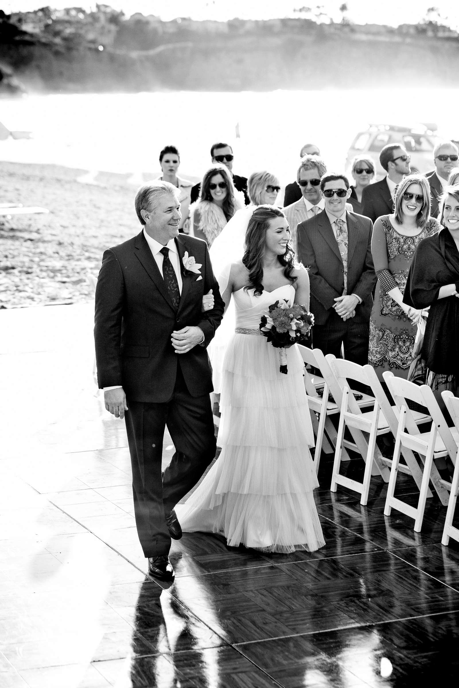
M411 155L413 171L421 173L434 169L434 146L439 140L436 135L437 125L428 122L416 127L398 125L370 125L366 131L360 131L352 141L346 158L345 169L350 175L352 158L355 155L368 155L374 161L376 179L382 179L386 172L379 162L381 149L389 143L399 143Z

